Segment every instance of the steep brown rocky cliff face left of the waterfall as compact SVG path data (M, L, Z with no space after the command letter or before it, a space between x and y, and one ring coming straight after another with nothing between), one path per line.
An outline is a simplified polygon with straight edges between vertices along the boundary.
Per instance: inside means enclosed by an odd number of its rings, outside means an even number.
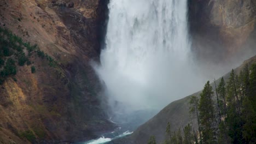
M60 143L113 128L101 103L98 61L108 1L3 0L0 25L53 57L31 57L0 89L0 143ZM104 35L104 34L103 34ZM15 79L14 79L15 78ZM106 106L106 105L105 105Z

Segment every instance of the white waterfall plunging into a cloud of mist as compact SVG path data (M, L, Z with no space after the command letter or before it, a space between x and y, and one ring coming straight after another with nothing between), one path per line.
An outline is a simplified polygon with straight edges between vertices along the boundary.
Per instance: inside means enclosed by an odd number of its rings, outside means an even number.
M108 7L95 70L111 100L160 109L201 88L191 72L187 0L110 0Z

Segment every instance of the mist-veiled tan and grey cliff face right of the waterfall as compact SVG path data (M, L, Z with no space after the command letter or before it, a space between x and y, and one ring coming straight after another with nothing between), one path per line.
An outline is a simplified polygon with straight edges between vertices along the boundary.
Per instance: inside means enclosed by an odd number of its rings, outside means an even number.
M193 51L199 59L220 63L232 57L241 61L255 54L255 1L188 2Z

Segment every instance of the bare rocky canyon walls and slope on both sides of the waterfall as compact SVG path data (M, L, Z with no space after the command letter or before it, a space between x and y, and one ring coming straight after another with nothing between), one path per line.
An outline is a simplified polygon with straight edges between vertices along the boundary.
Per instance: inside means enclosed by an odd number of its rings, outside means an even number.
M105 87L92 68L106 45L108 3L0 2L0 26L37 44L57 62L54 68L31 57L36 73L19 66L16 81L8 77L0 86L0 143L71 143L96 139L117 127L109 121ZM256 2L249 0L188 0L191 51L206 73L223 67L221 76L255 55L255 10ZM162 141L167 121L173 123L172 130L181 119L188 123L188 100L174 101L121 143L146 143L150 135Z

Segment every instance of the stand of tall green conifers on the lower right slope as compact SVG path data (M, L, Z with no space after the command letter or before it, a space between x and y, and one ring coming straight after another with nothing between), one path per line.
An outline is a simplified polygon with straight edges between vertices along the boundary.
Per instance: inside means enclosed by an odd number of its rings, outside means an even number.
M222 77L216 92L219 99L214 101L212 87L207 82L200 94L198 112L198 100L194 96L190 99L190 113L200 114L202 143L256 143L256 64L252 64L250 71L246 64L240 75L232 70L227 83Z

